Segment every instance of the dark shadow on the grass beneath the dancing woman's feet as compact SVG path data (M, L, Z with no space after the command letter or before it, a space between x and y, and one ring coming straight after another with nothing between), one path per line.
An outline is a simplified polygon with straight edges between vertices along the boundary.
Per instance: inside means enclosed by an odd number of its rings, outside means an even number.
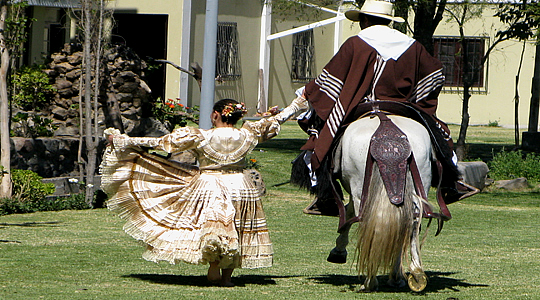
M165 274L130 274L122 277L136 278L139 280L149 281L160 284L175 284L189 286L211 286L206 276L183 276L183 275L165 275ZM274 278L292 278L301 276L276 276L276 275L239 275L233 277L233 282L236 286L246 286L248 284L257 285L275 285Z

